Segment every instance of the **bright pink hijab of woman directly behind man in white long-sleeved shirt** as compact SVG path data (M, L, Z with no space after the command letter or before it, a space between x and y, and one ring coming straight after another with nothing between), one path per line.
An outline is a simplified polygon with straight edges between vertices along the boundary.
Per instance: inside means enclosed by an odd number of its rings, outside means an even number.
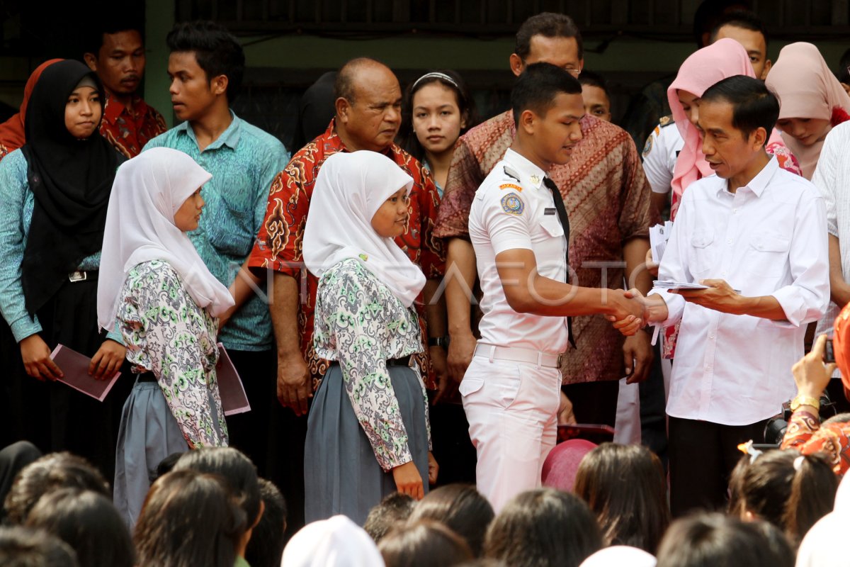
M702 153L700 133L690 123L682 103L679 102L678 91L688 91L701 97L714 83L735 75L756 77L745 49L734 39L726 37L691 54L679 67L676 80L667 88L667 99L670 101L673 119L685 141L673 170L673 192L679 198L689 184L714 172L708 167L706 156Z

